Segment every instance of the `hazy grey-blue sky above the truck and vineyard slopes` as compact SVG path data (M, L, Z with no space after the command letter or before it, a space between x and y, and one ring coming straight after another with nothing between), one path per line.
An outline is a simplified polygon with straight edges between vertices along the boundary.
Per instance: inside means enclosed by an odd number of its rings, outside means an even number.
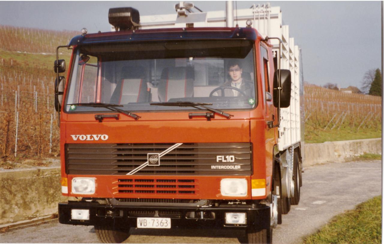
M224 1L188 1L203 11L225 10ZM0 1L0 25L88 33L109 31L108 10L134 7L141 15L175 13L177 1ZM237 1L250 8L260 1ZM381 2L270 1L301 48L304 80L319 86L361 87L364 73L381 67ZM235 1L234 1L235 5ZM80 32L79 32L80 33ZM63 44L65 45L65 43Z

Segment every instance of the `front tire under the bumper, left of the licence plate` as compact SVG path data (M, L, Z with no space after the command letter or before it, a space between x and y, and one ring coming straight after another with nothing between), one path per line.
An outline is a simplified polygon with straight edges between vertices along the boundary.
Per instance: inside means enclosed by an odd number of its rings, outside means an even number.
M130 236L129 229L116 229L112 226L95 226L95 232L103 243L121 243Z

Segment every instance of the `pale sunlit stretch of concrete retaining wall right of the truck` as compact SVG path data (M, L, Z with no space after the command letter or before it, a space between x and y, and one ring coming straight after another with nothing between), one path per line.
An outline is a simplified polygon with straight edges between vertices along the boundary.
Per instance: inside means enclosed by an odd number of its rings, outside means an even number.
M344 162L364 153L381 154L381 138L306 143L304 167L326 162Z

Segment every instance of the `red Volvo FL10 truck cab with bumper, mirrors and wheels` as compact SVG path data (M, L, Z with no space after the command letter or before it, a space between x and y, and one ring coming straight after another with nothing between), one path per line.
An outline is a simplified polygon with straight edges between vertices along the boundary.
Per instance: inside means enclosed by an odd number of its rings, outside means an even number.
M300 199L302 147L278 146L295 89L273 38L250 26L140 30L133 8L110 9L109 21L117 31L83 30L56 49L72 49L67 79L55 61L60 223L94 226L106 243L130 228L272 242Z

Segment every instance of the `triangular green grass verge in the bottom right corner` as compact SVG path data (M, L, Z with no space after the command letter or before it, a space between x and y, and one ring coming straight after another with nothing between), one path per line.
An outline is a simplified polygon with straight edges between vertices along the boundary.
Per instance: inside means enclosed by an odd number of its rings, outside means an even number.
M303 243L381 243L381 196L334 217Z

